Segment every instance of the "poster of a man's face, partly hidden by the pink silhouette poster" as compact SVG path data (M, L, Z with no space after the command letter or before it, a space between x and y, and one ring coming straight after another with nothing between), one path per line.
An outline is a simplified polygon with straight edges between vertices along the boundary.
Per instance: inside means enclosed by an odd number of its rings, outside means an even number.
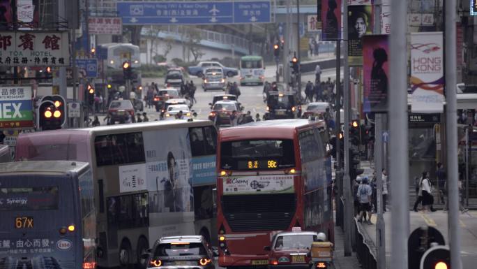
M372 34L372 6L348 7L348 61L349 66L363 64L363 41L361 38Z

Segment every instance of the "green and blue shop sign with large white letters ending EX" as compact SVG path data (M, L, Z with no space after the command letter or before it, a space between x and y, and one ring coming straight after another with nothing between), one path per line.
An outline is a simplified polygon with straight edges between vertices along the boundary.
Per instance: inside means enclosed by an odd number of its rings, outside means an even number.
M0 86L0 129L33 128L31 86Z

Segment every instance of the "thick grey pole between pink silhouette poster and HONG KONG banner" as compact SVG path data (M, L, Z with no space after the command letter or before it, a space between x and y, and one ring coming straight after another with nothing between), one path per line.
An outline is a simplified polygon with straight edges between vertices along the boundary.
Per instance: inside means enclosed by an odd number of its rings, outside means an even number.
M390 80L388 113L390 135L389 180L391 215L391 269L407 269L409 237L409 162L407 119L407 0L391 1ZM455 118L454 118L455 120ZM378 138L376 138L378 139ZM406 203L404 203L406 202Z

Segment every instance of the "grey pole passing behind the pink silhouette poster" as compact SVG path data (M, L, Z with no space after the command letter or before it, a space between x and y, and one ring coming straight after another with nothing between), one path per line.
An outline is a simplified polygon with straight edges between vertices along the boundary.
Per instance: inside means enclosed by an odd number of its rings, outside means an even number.
M381 34L381 0L374 0L374 34ZM386 114L374 114L374 168L377 176L377 223L376 223L376 240L377 240L377 268L386 268L386 226L384 224L383 209L386 207L383 203L383 173L384 167L383 156L383 129L384 118Z

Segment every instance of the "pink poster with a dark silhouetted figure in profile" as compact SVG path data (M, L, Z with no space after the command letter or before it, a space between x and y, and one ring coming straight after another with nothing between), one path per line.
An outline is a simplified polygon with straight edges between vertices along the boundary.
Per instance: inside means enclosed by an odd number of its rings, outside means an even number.
M386 112L389 89L388 35L363 36L363 112Z

